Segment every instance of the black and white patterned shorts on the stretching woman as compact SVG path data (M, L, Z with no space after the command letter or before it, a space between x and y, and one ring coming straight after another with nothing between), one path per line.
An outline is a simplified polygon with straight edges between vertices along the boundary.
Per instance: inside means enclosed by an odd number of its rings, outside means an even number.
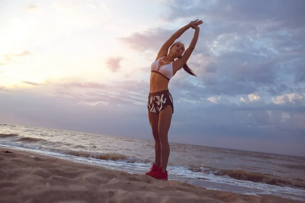
M151 113L159 114L168 105L172 107L174 113L173 97L168 90L148 94L147 108Z

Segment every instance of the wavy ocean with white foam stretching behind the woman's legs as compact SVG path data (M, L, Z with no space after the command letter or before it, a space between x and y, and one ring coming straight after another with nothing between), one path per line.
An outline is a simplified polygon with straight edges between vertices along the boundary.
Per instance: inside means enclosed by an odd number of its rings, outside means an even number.
M145 174L152 140L0 123L0 147ZM170 143L169 180L239 194L305 201L305 157Z

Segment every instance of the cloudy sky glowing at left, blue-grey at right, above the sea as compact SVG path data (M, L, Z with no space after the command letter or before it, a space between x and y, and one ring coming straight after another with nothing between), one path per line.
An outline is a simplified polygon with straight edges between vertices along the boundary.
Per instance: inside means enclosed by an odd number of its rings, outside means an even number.
M305 156L305 1L0 0L0 122L153 139L150 64L200 19L169 82L169 141ZM189 46L194 29L178 40Z

